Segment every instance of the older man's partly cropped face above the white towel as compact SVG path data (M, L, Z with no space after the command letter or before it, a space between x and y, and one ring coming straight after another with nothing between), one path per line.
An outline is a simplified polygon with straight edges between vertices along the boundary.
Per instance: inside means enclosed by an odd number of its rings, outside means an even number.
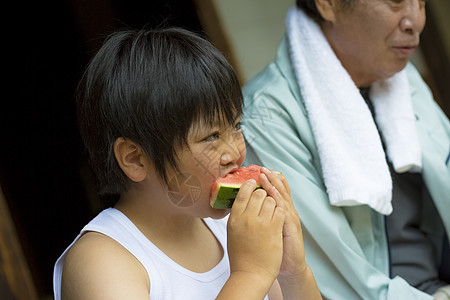
M358 87L401 71L419 44L425 0L316 0L323 31Z

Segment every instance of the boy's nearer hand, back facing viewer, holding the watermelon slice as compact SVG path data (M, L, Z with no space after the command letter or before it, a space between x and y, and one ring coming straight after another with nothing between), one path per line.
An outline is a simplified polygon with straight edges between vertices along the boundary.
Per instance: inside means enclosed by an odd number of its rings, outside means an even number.
M284 209L249 180L239 190L228 219L228 254L231 274L272 285L283 253Z

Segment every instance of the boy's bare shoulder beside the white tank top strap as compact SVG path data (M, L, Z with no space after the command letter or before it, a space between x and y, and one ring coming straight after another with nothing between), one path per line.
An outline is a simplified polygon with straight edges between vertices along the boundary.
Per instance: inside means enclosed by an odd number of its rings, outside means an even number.
M120 299L119 295L129 297L130 293L132 298L148 297L150 283L144 267L122 245L90 231L68 250L62 287L81 298Z

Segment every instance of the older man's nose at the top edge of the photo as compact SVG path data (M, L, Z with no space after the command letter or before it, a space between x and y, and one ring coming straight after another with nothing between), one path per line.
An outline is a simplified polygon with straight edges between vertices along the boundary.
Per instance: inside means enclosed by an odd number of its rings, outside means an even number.
M425 1L407 0L400 29L408 34L420 34L425 26Z

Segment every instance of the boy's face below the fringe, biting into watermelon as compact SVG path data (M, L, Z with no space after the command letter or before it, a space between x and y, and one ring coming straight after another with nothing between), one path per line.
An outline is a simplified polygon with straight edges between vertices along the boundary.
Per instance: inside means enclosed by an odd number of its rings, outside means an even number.
M178 151L179 172L169 174L169 200L198 217L222 218L229 210L209 205L211 186L241 167L245 142L240 120L232 126L209 126L196 123L188 136L189 149Z

